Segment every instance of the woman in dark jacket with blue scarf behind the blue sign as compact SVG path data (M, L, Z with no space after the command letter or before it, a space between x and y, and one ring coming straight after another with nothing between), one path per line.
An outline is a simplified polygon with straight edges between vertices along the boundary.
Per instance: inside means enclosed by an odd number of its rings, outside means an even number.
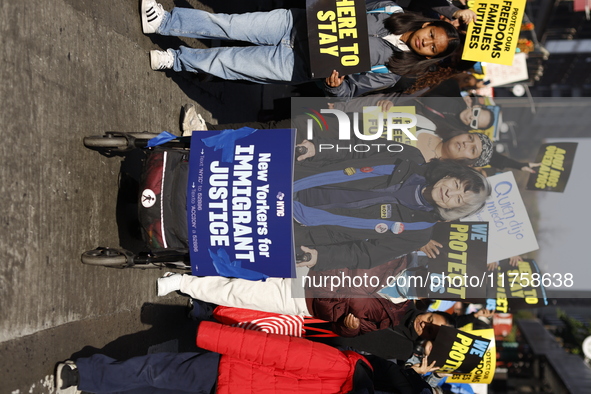
M435 222L478 211L490 194L478 172L453 161L419 165L416 149L316 152L314 144L304 142L313 156L295 171L294 218L300 224L296 246L314 248L307 265L318 262L319 270L371 268L410 253L428 241ZM395 160L399 164L390 171ZM383 204L387 217L380 213Z

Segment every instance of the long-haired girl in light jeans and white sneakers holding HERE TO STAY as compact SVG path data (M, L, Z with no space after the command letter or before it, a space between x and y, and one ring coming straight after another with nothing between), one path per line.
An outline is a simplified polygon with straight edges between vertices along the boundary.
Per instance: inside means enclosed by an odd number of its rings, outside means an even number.
M368 10L386 5L395 13L367 15L371 66L385 66L386 73L361 73L343 77L335 72L327 78L327 93L358 96L394 85L401 75L422 74L460 46L457 30L449 23L403 13L389 1L369 2ZM462 17L463 14L458 14ZM142 0L144 33L201 39L233 39L255 46L151 51L154 70L206 72L223 79L258 83L302 83L311 80L305 10L278 9L247 14L211 14L174 8L164 11L155 0ZM466 17L473 19L473 15ZM369 70L368 70L369 71Z

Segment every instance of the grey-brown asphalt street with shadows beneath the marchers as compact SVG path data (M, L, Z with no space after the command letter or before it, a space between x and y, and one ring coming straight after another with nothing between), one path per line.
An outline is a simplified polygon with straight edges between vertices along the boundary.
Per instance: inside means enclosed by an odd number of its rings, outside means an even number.
M213 123L254 121L291 88L152 71L150 49L212 43L143 35L138 0L6 0L0 31L0 393L53 392L56 362L72 355L192 348L186 299L156 297L163 272L80 263L85 250L135 236L116 220L133 209L117 205L128 159L88 150L82 139L107 130L178 134L185 103Z

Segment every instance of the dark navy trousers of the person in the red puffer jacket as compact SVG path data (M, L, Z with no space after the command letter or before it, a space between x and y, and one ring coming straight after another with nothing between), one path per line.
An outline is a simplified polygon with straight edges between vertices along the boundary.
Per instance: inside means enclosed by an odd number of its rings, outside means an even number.
M102 354L76 360L79 390L91 393L210 394L218 353L155 353L117 361Z

